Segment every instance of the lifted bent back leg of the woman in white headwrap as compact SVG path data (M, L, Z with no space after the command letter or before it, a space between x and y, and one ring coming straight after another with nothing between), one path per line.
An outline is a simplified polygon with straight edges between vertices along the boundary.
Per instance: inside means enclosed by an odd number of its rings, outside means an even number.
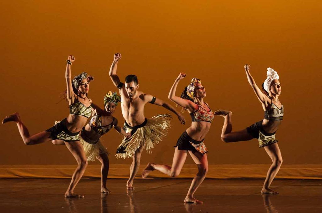
M225 118L222 130L222 141L238 142L238 141L249 141L253 137L247 132L246 129L232 132L232 112L228 110L217 110L214 112L216 116L223 116Z

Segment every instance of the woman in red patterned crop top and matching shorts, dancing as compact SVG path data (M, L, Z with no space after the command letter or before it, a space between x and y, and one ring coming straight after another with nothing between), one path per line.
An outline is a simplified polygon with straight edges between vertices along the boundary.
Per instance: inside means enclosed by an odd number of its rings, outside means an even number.
M175 83L169 92L169 99L185 108L192 118L191 126L179 137L175 145L175 154L173 156L172 166L166 164L148 163L142 171L142 177L145 178L153 171L161 171L171 177L177 177L185 163L187 153L198 166L198 173L194 177L191 186L185 197L185 203L202 203L193 197L194 192L204 181L208 171L207 148L204 138L210 129L211 122L214 118L212 110L204 102L206 91L201 84L200 79L193 78L191 83L185 87L181 97L175 96L175 90L179 81L185 78L185 73L180 73L175 79Z

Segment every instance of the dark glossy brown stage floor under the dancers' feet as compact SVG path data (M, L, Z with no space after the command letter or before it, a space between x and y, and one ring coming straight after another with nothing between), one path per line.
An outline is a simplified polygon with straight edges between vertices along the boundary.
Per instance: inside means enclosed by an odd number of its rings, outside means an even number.
M65 199L68 179L0 179L0 212L322 212L321 180L275 180L278 195L260 194L264 180L206 179L195 193L203 204L184 204L192 179L109 179L111 194L100 193L99 179L82 179L75 192L85 198Z

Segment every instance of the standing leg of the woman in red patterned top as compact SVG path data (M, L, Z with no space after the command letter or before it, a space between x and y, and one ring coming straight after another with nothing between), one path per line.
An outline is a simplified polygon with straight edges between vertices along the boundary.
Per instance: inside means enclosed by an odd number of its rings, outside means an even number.
M206 174L208 172L207 154L201 154L198 151L189 151L189 154L198 166L198 173L191 182L187 196L185 197L185 203L202 203L202 201L194 198L194 192L204 181L204 178L206 177Z

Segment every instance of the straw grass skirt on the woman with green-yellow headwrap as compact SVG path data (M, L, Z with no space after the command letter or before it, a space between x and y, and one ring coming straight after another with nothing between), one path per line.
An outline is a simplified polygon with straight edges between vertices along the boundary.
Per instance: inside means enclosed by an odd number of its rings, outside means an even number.
M109 154L107 149L103 146L103 144L101 144L100 140L96 144L89 144L80 136L80 142L84 148L88 161L95 161L99 154Z

